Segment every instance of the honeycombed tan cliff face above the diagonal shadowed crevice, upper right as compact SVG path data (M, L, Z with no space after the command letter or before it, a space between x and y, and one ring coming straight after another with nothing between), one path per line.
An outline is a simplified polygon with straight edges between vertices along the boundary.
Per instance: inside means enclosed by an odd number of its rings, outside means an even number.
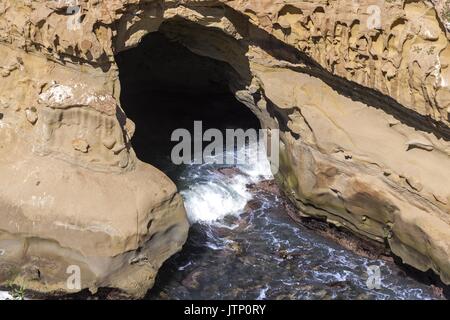
M245 2L245 5L243 4ZM330 73L449 122L448 39L426 1L230 1Z

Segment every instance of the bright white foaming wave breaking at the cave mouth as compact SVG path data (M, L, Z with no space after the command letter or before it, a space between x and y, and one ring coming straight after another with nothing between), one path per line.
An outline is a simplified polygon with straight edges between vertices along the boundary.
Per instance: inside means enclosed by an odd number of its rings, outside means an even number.
M239 215L252 195L247 185L272 178L270 163L264 150L258 153L258 144L248 147L249 160L236 167L243 173L233 177L225 176L217 169L226 167L218 164L203 164L188 170L193 183L182 190L186 211L191 223L214 223L227 215ZM223 157L223 155L217 155ZM210 159L213 160L213 159ZM194 166L194 165L192 165ZM192 173L194 171L195 173ZM196 179L195 179L196 177Z

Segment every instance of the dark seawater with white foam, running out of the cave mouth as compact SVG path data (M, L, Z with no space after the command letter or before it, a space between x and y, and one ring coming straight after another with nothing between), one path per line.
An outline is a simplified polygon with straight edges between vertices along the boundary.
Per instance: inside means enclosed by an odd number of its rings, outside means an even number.
M148 298L436 298L431 287L394 263L358 256L295 223L284 199L249 192L247 184L271 178L268 163L240 166L231 176L220 167L168 165L192 226L182 252L160 270ZM368 288L369 266L380 268L378 290Z

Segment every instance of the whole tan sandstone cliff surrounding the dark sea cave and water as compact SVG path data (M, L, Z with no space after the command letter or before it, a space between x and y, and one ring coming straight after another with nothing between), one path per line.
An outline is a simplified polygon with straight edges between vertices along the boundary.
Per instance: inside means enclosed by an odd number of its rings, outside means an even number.
M78 265L83 289L142 297L181 249L182 199L137 159L119 102L116 55L159 31L228 64L231 92L281 130L299 215L450 284L445 5L356 2L79 0L73 21L70 2L0 1L0 282L65 291Z

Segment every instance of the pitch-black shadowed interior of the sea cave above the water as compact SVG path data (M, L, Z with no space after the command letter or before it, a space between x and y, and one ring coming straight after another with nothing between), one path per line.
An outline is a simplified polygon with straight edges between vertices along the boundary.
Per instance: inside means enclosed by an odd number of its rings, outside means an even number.
M197 55L161 32L147 35L116 60L122 108L136 124L133 148L140 160L173 180L174 130L192 134L194 121L202 121L203 131L260 128L257 117L231 93L228 83L235 71L225 62Z

